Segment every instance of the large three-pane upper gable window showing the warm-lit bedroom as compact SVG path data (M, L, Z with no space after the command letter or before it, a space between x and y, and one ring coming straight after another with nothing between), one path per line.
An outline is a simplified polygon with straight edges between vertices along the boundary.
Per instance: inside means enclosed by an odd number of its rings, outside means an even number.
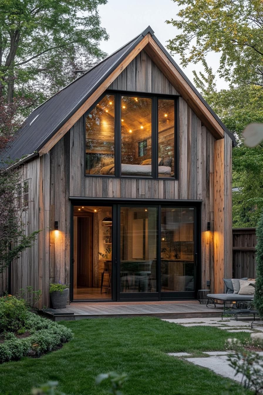
M176 100L105 94L85 115L86 175L176 178Z

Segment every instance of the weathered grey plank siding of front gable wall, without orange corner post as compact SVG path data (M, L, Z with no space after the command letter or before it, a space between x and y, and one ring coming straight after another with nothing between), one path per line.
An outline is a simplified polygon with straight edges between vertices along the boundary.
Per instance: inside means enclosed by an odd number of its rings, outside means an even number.
M110 86L112 89L137 90L140 92L177 94L175 88L146 53L142 52L121 73ZM225 140L227 141L227 139ZM218 256L214 248L214 196L219 198L215 186L215 169L219 166L224 181L223 201L228 198L230 218L229 173L224 166L231 155L230 140L215 141L209 130L203 126L194 111L183 98L179 98L179 179L132 179L115 177L85 177L85 134L84 117L62 137L48 154L41 157L40 214L39 226L49 224L43 232L39 249L39 273L42 278L43 304L48 305L48 284L61 280L69 282L70 270L70 201L69 196L79 198L129 198L129 199L192 199L202 200L201 209L201 286L207 288L210 280L211 292L214 291L215 278L218 275ZM223 147L222 158L215 158L215 146ZM224 146L225 143L225 146ZM224 150L228 150L224 156ZM225 158L225 162L224 162ZM217 169L218 171L218 169ZM227 186L228 185L228 186ZM217 191L217 192L216 192ZM48 203L49 202L49 203ZM224 202L223 202L224 203ZM223 204L224 207L224 204ZM219 216L217 215L217 221ZM59 222L59 232L55 235L54 222ZM211 231L207 231L207 222L211 222ZM230 224L230 220L229 220ZM228 224L228 226L230 226ZM228 232L224 221L222 232ZM227 233L228 234L228 233ZM227 246L224 252L224 246ZM225 267L230 245L225 243L222 250L221 277ZM215 247L216 246L216 247ZM219 246L220 247L220 246ZM218 254L217 248L216 253ZM221 253L221 252L220 252ZM216 262L216 263L215 263ZM214 278L215 276L215 278Z

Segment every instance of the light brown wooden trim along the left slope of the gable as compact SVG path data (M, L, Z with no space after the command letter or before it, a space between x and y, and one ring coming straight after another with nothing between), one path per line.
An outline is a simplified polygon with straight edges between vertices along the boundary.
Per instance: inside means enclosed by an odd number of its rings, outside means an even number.
M91 107L91 105L103 94L108 86L118 77L118 75L128 66L129 63L144 49L149 42L149 33L136 45L129 55L119 64L118 67L103 81L93 94L83 103L80 108L65 122L65 124L48 140L48 142L39 150L39 156L47 154L48 151L72 128L80 117Z

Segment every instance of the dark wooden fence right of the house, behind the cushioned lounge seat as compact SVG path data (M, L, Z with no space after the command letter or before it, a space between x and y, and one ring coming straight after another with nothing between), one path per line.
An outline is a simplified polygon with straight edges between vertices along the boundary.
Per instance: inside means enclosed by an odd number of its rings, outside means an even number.
M233 229L233 278L256 278L256 228Z

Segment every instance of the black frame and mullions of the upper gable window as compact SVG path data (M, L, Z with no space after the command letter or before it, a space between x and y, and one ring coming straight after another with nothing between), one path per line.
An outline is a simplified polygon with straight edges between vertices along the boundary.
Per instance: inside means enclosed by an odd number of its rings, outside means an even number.
M105 95L114 96L114 175L102 175L102 174L86 174L86 117L95 108L95 106L103 99ZM152 124L151 124L151 163L152 173L151 176L142 175L121 175L121 96L130 97L142 97L152 99ZM157 179L157 180L178 180L179 179L179 95L167 95L167 94L152 94L145 92L131 92L122 90L106 90L96 100L95 103L86 111L84 114L83 126L84 126L84 176L85 177L114 177L114 178L135 178L135 179ZM158 100L166 99L174 101L174 175L173 177L159 177L158 174Z

